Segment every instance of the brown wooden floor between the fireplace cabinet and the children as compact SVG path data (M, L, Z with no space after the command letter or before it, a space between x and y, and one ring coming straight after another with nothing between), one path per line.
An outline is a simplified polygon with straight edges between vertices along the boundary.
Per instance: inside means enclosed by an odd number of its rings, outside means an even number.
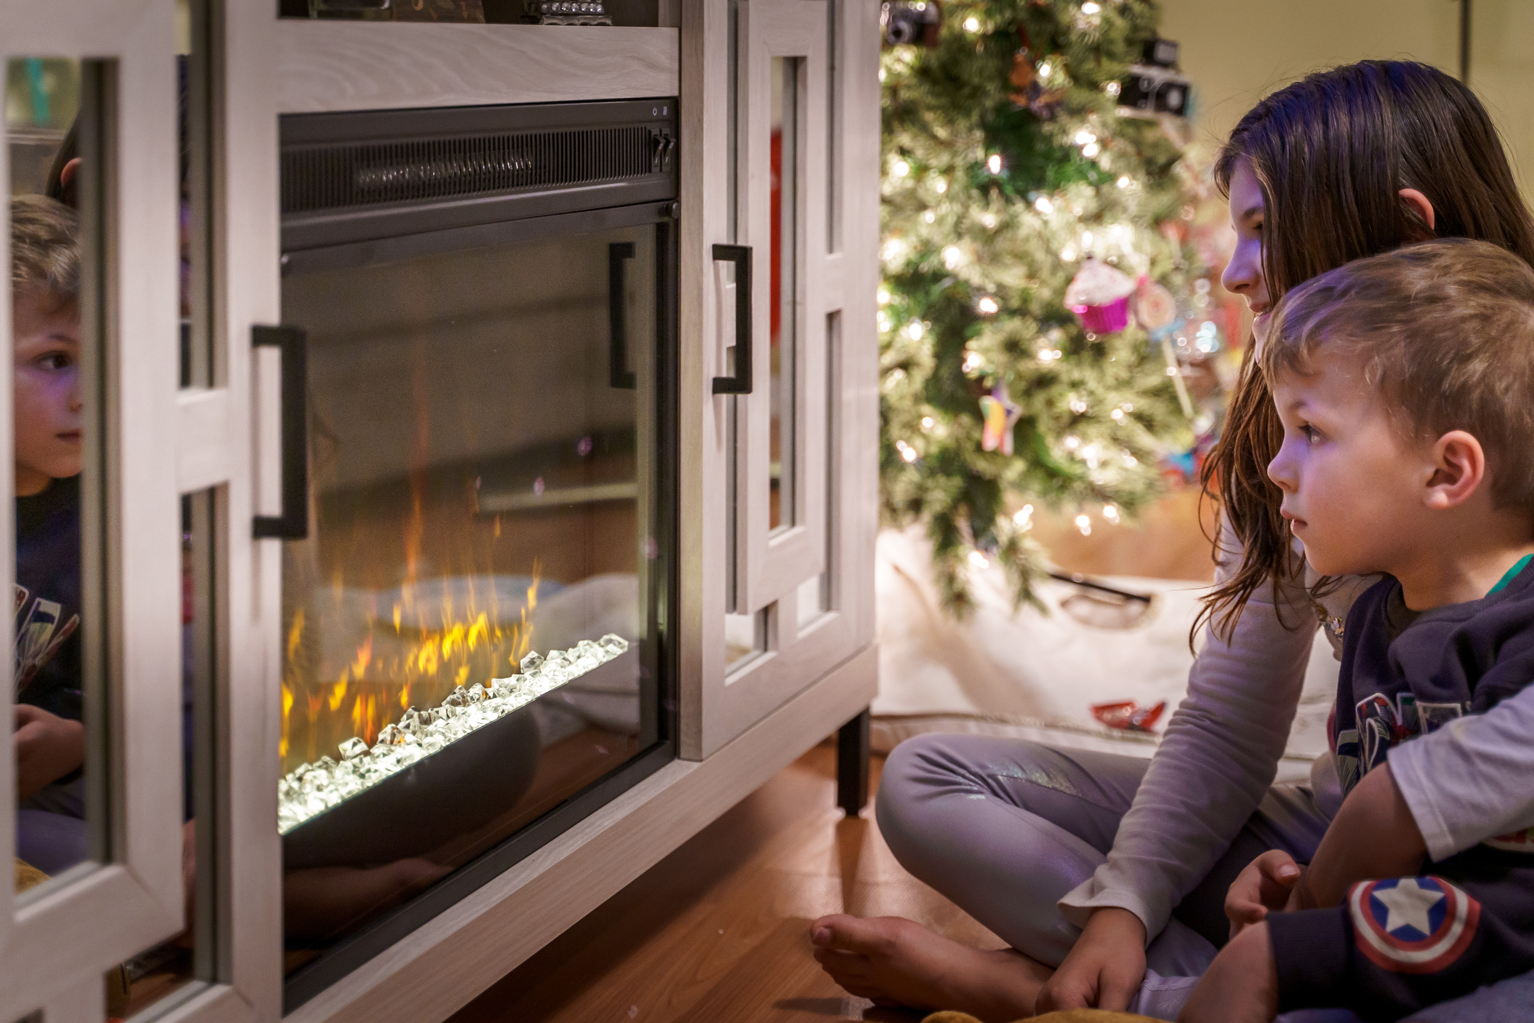
M1003 942L894 862L873 807L844 819L834 761L830 744L810 750L451 1023L920 1020L833 985L810 956L810 920L896 914Z

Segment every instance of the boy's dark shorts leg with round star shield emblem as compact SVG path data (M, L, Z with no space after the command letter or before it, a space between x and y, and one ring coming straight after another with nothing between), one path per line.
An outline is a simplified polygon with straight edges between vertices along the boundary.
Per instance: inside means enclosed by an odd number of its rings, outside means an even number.
M1267 926L1279 1012L1397 1020L1534 968L1528 936L1436 876L1359 882L1339 906L1273 913Z

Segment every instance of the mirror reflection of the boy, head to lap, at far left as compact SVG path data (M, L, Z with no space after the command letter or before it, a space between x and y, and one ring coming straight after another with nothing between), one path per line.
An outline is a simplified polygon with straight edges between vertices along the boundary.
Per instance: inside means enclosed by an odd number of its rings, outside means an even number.
M86 857L78 298L75 212L14 198L17 856L48 874Z

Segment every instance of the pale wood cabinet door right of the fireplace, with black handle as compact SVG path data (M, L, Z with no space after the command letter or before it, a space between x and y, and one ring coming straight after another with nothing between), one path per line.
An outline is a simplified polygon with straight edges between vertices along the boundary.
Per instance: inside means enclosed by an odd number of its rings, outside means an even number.
M704 236L733 247L712 250L700 302L704 345L718 345L716 365L730 376L715 382L713 406L692 434L704 442L704 483L724 486L704 488L721 497L718 518L706 505L698 515L704 650L700 678L683 676L689 756L707 756L871 640L876 221L862 199L842 202L847 181L876 192L877 37L861 6L741 0L726 26L709 20L718 8L684 12L684 52L689 25L703 41L693 87L719 95L723 81L733 101L729 118L703 112L692 155L704 173L730 167L727 195L706 178L693 195ZM686 61L683 72L689 95ZM687 196L686 170L683 181ZM686 296L683 308L686 339ZM686 416L684 406L684 437ZM684 483L684 529L689 497ZM721 577L721 600L710 604ZM689 729L692 693L700 707Z

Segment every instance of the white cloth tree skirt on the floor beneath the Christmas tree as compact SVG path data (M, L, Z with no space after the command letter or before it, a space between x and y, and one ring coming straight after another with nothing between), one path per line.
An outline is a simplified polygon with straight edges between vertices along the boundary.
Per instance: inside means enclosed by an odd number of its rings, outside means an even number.
M1157 735L1108 729L1092 704L1166 701L1160 733L1187 692L1193 653L1189 627L1207 589L1181 580L1108 577L1114 587L1150 594L1135 617L1069 583L1046 581L1049 613L1014 613L1000 567L974 567L974 612L945 615L930 574L931 544L919 529L879 537L874 586L879 606L879 696L874 748L923 732L1014 735L1054 745L1150 756ZM1126 610L1129 613L1126 613ZM1132 621L1131 621L1132 620ZM1095 623L1095 624L1089 624ZM1336 696L1338 664L1321 632L1310 653L1299 715L1279 779L1301 779L1327 750L1325 722Z

